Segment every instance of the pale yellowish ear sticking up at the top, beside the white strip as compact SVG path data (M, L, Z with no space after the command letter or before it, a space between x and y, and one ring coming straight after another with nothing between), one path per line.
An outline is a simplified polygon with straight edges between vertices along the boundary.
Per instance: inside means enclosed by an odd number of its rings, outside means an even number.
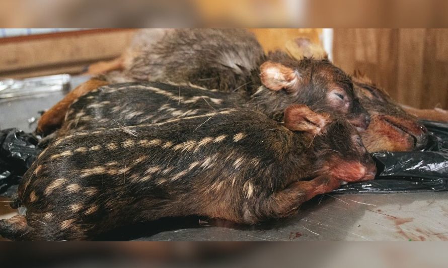
M321 44L311 42L309 38L299 37L285 44L286 51L295 59L303 58L327 59L328 54Z

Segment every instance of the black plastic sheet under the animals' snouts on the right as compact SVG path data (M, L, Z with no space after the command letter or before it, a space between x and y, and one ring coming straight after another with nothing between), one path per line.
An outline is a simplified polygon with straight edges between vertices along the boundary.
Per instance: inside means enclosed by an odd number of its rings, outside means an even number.
M448 191L448 124L421 121L429 141L422 151L376 152L375 180L342 186L335 193Z

